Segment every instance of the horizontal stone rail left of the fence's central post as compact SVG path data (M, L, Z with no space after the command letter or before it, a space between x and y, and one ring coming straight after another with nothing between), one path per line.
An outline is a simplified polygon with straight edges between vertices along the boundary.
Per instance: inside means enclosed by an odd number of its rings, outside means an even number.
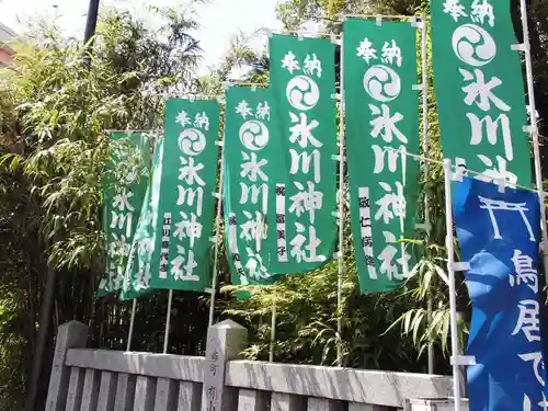
M69 350L67 365L202 383L204 357L107 350Z

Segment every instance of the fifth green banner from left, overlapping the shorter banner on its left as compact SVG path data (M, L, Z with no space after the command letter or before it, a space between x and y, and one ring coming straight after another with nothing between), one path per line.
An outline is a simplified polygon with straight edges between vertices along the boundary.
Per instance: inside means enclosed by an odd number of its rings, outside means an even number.
M272 274L306 273L336 244L335 48L329 39L272 35L269 250ZM275 224L274 224L275 221Z

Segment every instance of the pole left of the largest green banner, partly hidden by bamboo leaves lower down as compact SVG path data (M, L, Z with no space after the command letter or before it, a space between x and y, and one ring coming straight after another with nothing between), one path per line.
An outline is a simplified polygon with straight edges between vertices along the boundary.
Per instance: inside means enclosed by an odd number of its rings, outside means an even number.
M425 158L430 156L429 149L429 73L427 73L427 44L426 44L426 16L422 15L421 27L421 64L422 64L422 152ZM426 182L430 175L430 161L424 161L424 174ZM430 198L429 191L424 194L424 229L430 240ZM432 287L429 287L429 299L426 306L426 318L432 323L432 311L434 301L432 299ZM429 374L434 374L434 346L429 344Z

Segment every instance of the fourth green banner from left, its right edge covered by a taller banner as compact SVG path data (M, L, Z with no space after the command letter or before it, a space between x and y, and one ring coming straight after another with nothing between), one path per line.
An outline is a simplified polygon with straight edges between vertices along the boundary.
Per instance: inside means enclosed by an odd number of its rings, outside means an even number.
M269 192L275 190L267 165L282 153L270 138L269 89L230 88L225 113L225 221L235 285L271 284L267 238ZM272 168L271 168L272 170Z

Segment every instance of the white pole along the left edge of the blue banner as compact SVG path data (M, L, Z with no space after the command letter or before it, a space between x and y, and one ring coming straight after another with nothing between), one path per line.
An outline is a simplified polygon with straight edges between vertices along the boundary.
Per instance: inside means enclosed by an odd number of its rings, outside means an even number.
M444 180L445 180L445 225L447 235L445 238L447 247L447 273L449 276L449 306L450 306L450 350L453 366L453 390L455 396L455 411L460 411L460 370L457 362L458 357L458 324L457 324L457 296L455 286L454 259L455 250L453 248L453 204L452 204L452 162L450 159L444 160Z

